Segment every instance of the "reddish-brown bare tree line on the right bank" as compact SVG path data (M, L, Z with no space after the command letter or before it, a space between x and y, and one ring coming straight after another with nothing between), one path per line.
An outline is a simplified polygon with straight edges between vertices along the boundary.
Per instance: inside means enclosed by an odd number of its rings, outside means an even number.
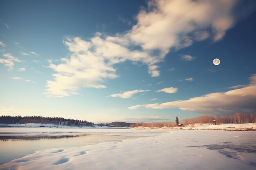
M213 121L214 120L214 121ZM183 119L184 124L249 124L256 122L256 113L236 113L228 116L199 116L191 119Z

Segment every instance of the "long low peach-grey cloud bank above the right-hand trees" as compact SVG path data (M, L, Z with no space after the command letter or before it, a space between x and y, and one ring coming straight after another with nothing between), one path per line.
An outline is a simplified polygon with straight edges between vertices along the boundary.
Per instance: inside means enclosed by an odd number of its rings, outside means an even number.
M193 111L206 115L225 115L236 112L256 112L256 74L250 77L250 84L224 93L209 93L187 100L177 100L162 104L145 104L129 107L136 109L140 106L146 108L180 108L184 111Z

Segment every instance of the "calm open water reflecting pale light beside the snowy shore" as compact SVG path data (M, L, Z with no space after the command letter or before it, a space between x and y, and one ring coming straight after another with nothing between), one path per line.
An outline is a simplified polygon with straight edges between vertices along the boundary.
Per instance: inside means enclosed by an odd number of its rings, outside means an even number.
M37 133L0 136L0 164L47 148L67 148L122 141L139 136L88 135L79 133Z

